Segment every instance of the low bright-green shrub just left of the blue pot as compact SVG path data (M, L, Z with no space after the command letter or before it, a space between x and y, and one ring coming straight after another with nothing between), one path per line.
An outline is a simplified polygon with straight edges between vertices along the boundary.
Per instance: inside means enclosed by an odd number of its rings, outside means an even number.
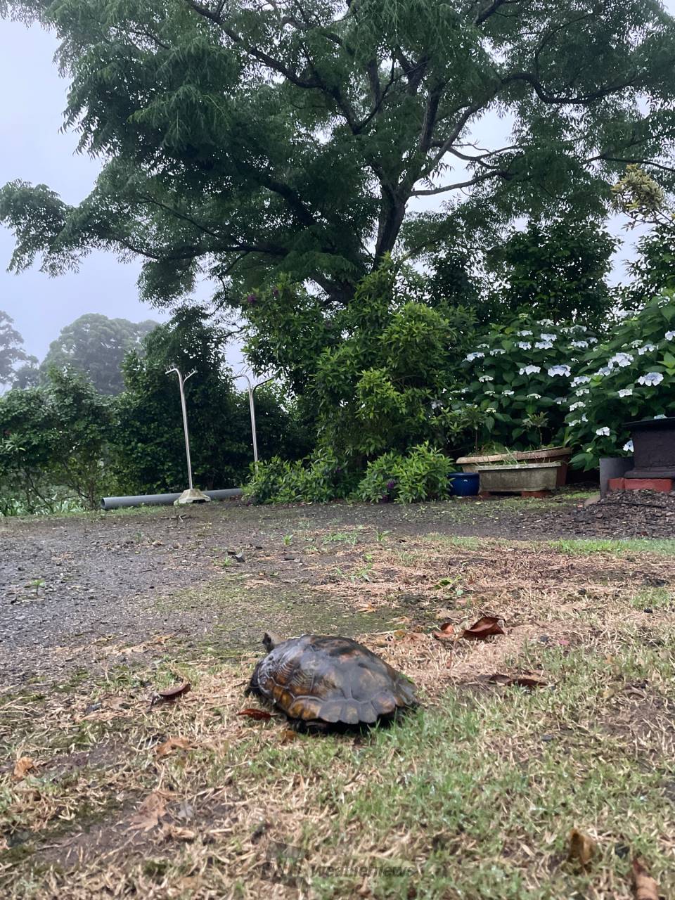
M425 443L407 455L383 454L369 463L356 492L360 500L371 503L446 500L452 471L452 460Z

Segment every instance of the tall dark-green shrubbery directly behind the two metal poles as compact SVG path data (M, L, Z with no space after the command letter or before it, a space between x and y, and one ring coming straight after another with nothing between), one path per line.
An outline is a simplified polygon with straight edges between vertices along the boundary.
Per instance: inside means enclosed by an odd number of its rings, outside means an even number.
M238 487L252 457L246 392L235 390L225 358L223 329L199 307L184 307L152 331L144 353L124 364L126 389L115 403L113 471L125 490L182 491L187 481L177 365L186 375L194 482L204 489ZM263 459L291 458L309 449L293 410L285 410L278 389L256 392L258 450Z

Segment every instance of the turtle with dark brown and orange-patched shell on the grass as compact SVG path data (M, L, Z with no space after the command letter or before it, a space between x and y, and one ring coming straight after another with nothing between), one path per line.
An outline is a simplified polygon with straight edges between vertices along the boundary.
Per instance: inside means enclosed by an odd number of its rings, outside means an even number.
M347 637L266 634L247 694L266 698L297 725L373 725L418 700L415 686Z

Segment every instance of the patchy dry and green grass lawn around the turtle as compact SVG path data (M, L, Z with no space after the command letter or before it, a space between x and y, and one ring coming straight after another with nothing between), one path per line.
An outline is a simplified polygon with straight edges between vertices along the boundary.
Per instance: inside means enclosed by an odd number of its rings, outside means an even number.
M347 602L419 709L296 734L238 716L263 708L243 697L249 651L102 643L103 671L74 660L49 690L0 697L2 896L627 900L636 856L675 896L675 542L279 537L301 541L317 630L324 602ZM247 602L274 590L258 576ZM482 615L506 634L433 636ZM504 683L533 672L536 689Z

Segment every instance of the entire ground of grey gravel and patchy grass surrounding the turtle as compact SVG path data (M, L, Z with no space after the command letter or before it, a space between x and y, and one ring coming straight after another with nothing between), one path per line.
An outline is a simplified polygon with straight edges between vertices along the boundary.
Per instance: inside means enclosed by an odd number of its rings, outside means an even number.
M588 500L0 523L0 895L628 900L639 852L672 896L675 498ZM266 629L357 636L419 713L241 716Z

